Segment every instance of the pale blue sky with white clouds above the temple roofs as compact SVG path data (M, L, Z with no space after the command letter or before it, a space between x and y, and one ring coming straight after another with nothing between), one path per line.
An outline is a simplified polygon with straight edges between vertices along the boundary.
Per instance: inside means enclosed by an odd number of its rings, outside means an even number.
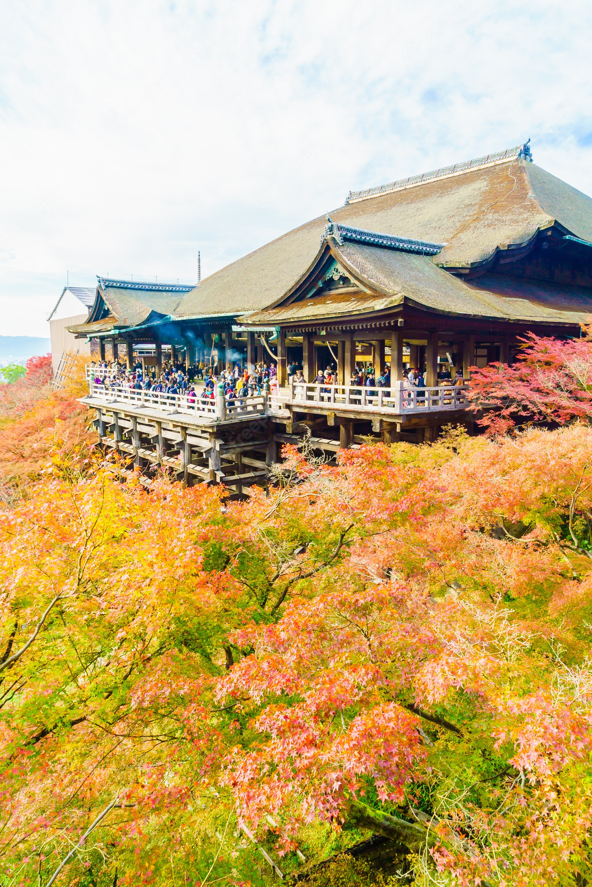
M195 283L347 192L532 139L592 194L580 0L0 0L0 334ZM405 232L401 232L404 235Z

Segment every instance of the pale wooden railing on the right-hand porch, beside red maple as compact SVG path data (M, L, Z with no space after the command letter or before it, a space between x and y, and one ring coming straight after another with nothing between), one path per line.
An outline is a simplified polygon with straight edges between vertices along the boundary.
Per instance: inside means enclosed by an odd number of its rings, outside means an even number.
M317 385L291 380L284 403L310 404L354 412L426 412L460 410L468 406L468 385L438 385L432 388L404 388L396 381L391 388L356 385Z

